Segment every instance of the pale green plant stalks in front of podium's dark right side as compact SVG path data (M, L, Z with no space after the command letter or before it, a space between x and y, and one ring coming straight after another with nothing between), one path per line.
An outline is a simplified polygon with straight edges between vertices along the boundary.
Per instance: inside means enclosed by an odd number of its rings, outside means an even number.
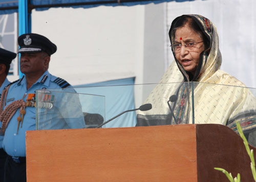
M252 149L250 150L248 141L246 140L246 138L245 138L245 136L244 136L244 134L243 134L243 131L242 131L242 128L241 128L239 122L236 121L236 123L237 123L238 133L239 133L240 137L241 137L241 138L243 139L243 141L244 141L244 145L245 145L246 151L247 151L247 153L248 153L248 155L249 155L249 157L250 157L250 160L251 160L251 165L250 165L250 167L251 167L251 173L252 173L252 175L253 175L253 179L256 181L256 170L255 170L255 160L254 160L253 150L252 150ZM232 177L232 174L231 174L231 173L228 173L225 169L222 169L222 168L214 168L214 169L216 169L216 170L218 170L218 171L221 171L221 172L223 172L224 174L226 174L227 178L228 178L229 181L231 181L231 182L240 182L240 181L241 181L241 180L240 180L240 174L239 174L239 173L238 173L238 176L237 176L237 177L233 178L233 177Z

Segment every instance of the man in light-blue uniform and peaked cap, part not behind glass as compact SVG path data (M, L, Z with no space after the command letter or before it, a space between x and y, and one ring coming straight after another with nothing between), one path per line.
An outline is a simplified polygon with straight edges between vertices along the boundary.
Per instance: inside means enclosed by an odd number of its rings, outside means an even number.
M18 37L20 71L22 79L3 91L0 105L2 132L5 133L3 148L8 157L5 163L4 181L26 181L26 131L35 130L35 105L28 99L35 98L38 89L68 88L70 85L48 72L51 55L57 47L48 38L38 34ZM85 127L84 120L78 124Z

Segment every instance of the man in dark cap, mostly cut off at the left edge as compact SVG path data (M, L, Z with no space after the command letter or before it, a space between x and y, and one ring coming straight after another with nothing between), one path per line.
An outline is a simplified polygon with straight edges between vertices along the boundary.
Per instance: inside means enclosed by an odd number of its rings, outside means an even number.
M13 59L16 58L16 53L12 53L6 49L0 48L0 97L4 88L10 84L7 79L9 73L10 64ZM1 126L0 122L0 126ZM2 147L4 135L0 135L0 181L4 180L4 166L7 154Z

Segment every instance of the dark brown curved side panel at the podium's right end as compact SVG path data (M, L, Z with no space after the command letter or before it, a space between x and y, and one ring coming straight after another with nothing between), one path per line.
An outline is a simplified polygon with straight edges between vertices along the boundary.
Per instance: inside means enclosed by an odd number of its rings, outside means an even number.
M256 148L250 147L256 157ZM256 159L256 158L255 158ZM242 138L227 126L219 124L197 125L198 181L229 181L224 173L214 170L223 168L241 181L254 181L250 158Z

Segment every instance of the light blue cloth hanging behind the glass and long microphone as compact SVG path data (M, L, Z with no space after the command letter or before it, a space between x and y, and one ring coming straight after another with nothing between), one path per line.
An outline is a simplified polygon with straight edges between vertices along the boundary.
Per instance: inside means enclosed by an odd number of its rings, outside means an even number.
M105 96L105 121L119 113L135 108L134 103L135 78L113 80L95 84L79 85L77 93ZM107 123L104 127L132 127L136 125L136 112L124 113ZM103 127L103 126L102 126Z

